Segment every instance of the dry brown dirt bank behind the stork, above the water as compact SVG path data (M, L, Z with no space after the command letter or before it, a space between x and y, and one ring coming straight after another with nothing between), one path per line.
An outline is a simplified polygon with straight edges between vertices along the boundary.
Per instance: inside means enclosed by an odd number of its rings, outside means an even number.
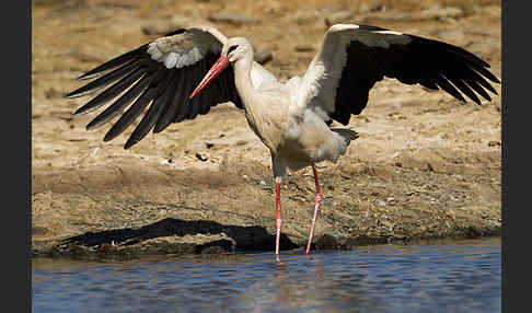
M134 127L104 143L109 125L86 131L95 114L72 116L90 97L62 97L81 85L74 79L84 71L161 33L209 23L228 36L247 36L258 51L270 51L266 68L286 80L304 72L327 23L343 21L455 44L488 61L500 78L500 4L438 3L34 1L33 254L274 247L270 159L241 111L220 104L124 150ZM499 235L501 97L500 85L495 88L499 95L477 106L419 85L379 82L366 111L349 125L360 138L337 164L317 166L325 197L315 248ZM293 248L307 241L314 182L310 169L287 178L282 247Z

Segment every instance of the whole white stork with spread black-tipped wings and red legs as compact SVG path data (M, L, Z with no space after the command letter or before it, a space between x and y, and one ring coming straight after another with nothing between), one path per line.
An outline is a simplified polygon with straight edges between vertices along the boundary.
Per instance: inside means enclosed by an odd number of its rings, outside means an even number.
M271 154L278 255L279 185L287 167L312 166L314 173L310 253L322 200L314 164L336 162L357 138L352 130L331 128L333 120L347 125L352 114L360 114L370 89L384 77L430 90L441 88L462 102L466 101L461 92L477 104L475 92L490 101L486 90L497 92L486 79L499 80L486 68L487 62L450 44L375 26L336 24L325 33L304 76L282 83L254 61L247 39L228 39L218 30L200 25L180 28L90 70L79 80L97 79L66 96L82 96L113 83L74 113L86 114L114 100L86 125L93 129L130 105L104 141L122 134L149 106L125 149L151 129L160 132L171 123L207 114L218 103L232 102L243 108L250 127Z

